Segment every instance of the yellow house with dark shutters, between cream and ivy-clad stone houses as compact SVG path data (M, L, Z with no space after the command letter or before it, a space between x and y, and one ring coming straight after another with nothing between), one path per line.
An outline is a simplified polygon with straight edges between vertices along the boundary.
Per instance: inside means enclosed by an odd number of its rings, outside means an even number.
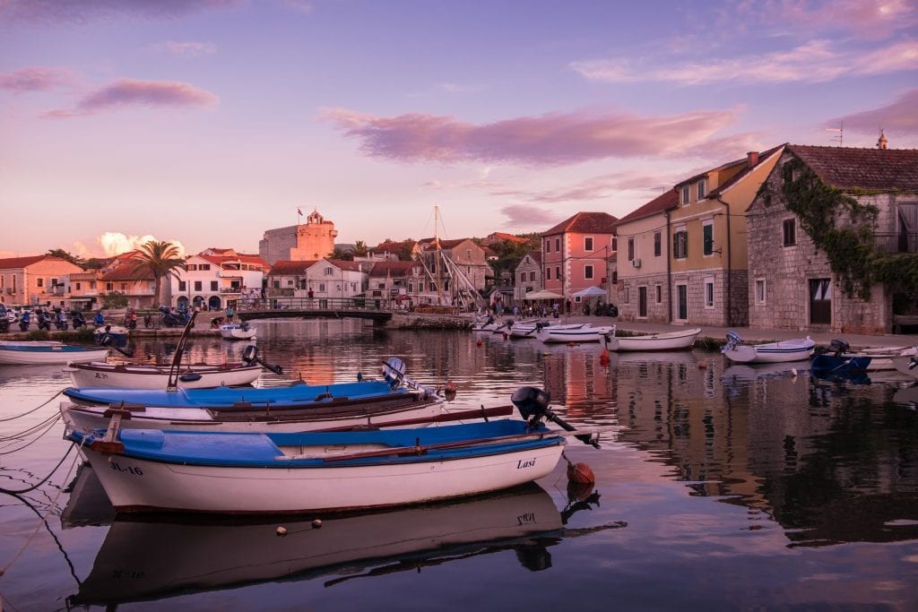
M675 186L669 213L670 317L675 324L744 327L749 320L746 209L781 147L701 172ZM643 261L642 261L643 263Z

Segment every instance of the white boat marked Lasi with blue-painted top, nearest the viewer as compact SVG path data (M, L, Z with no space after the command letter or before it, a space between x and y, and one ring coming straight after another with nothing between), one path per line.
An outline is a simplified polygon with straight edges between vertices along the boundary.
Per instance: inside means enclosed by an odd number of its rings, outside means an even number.
M469 430L471 432L490 431L496 430L493 426L498 423L484 424L489 428L461 425L397 429L392 433L401 435L410 432L418 444L426 445L429 439L448 440L451 434L446 431L452 428L475 428ZM433 433L430 433L431 429ZM424 432L429 433L425 436ZM254 454L258 453L259 444L264 451L263 437L257 434L121 431L120 440L124 441L131 434L146 434L146 441L140 441L138 446L140 451L112 454L95 450L93 443L83 447L108 498L119 512L285 514L415 504L532 482L554 470L564 449L564 439L553 434L497 445L476 443L473 434L468 443L474 446L458 451L452 449L420 455L412 453L408 456L331 462L308 458L303 460L308 465L304 465L297 458L283 461L274 457L274 462L245 460L247 451L239 449L249 440L242 437L252 439L256 447ZM154 448L157 440L170 436L173 439L185 436L183 448L204 449L214 456L222 447L222 463L217 460L207 462L181 453L169 454L174 451L169 443L164 444L162 452ZM218 438L214 439L214 436ZM323 436L350 437L341 440L353 440L353 443L344 441L335 448L343 452L354 451L353 456L367 448L362 444L366 438L360 432L300 434L299 439L304 443L327 446L330 442L321 438ZM310 440L309 437L315 438ZM72 440L82 441L82 437ZM309 447L310 450L312 448L315 447ZM241 464L243 462L245 464Z

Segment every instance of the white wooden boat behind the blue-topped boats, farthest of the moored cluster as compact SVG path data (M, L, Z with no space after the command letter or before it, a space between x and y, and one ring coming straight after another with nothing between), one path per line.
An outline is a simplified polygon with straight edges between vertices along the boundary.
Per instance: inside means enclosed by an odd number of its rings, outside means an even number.
M172 368L148 363L71 363L67 368L73 386L165 389ZM257 363L182 365L175 372L177 385L186 389L240 386L254 383L262 373Z

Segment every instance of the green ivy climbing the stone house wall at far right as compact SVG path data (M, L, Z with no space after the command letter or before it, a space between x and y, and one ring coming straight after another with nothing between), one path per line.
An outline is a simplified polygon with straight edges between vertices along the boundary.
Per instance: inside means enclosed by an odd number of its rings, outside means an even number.
M845 295L869 301L870 287L877 283L893 294L918 295L918 255L877 249L877 206L861 204L852 195L823 183L796 158L786 162L781 172L788 210L800 218L800 226L826 254Z

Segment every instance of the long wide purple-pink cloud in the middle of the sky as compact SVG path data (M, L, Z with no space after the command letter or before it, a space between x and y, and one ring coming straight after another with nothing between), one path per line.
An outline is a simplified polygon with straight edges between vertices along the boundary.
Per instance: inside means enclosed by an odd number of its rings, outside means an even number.
M562 165L610 157L682 155L731 125L736 112L659 117L571 112L474 125L453 117L420 113L373 117L335 108L325 110L321 118L359 140L361 150L372 157Z

